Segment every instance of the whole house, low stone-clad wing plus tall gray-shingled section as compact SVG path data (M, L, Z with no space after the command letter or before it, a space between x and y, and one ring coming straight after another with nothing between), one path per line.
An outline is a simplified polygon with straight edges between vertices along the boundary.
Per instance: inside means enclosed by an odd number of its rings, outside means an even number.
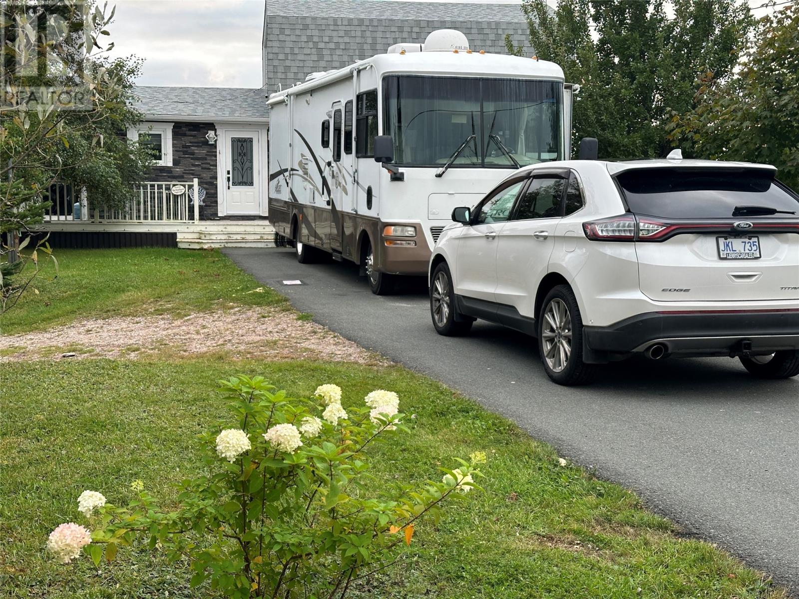
M128 137L153 149L137 201L104 210L69 184L51 192L44 229L56 247L264 246L268 222L268 93L380 54L422 43L433 30L463 31L475 50L527 41L519 4L399 0L265 0L260 89L137 86L145 121ZM145 65L146 68L146 65ZM77 208L77 210L76 210Z

